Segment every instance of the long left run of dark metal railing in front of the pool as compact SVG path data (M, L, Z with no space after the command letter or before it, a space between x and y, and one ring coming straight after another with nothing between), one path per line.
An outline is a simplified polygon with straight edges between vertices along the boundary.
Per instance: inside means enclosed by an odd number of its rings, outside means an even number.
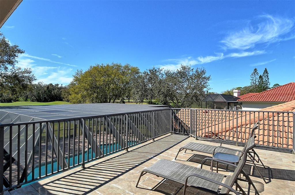
M0 192L171 133L172 116L167 108L2 124Z

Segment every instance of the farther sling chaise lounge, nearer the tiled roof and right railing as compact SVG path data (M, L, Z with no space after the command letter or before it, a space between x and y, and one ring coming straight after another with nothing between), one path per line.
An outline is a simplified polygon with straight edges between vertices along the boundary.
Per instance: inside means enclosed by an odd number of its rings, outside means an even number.
M249 135L249 139L251 137L253 137L253 134L254 134L254 131L256 129L258 129L258 125L259 123L254 123L253 125L253 128L251 130L251 133ZM228 156L231 156L231 155L235 155L235 156L238 156L239 158L241 158L243 156L243 154L245 153L245 148L246 148L246 145L247 145L247 142L244 143L245 146L243 148L243 150L237 150L237 149L233 149L233 148L227 148L227 147L224 147L222 146L222 143L224 141L232 141L232 140L222 140L221 143L220 143L220 146L212 146L212 145L209 145L209 144L204 144L204 143L196 143L196 142L189 142L187 143L186 145L182 146L178 153L176 154L175 156L175 160L179 154L180 151L182 150L185 150L184 152L186 153L186 150L191 150L191 151L197 151L197 152L203 152L203 153L207 153L207 154L212 154L213 156L216 154L216 153L226 153L226 154L229 154ZM232 141L232 142L236 142L236 141ZM238 142L238 143L242 143L242 142ZM223 157L225 157L225 155L222 155ZM259 171L257 165L255 162L257 163L261 163L262 166L266 168L266 166L264 166L263 162L261 161L259 155L255 152L254 148L252 148L251 151L248 151L248 156L249 156L249 160L247 160L248 162L251 162L256 170L258 171L259 175L261 176L261 178L263 179L263 181L265 183L267 183L267 181L264 179L264 177L262 176L261 172ZM215 158L218 158L217 155L215 155ZM223 161L227 161L226 159L222 159ZM230 162L230 161L228 161ZM212 165L211 165L211 168L212 168Z

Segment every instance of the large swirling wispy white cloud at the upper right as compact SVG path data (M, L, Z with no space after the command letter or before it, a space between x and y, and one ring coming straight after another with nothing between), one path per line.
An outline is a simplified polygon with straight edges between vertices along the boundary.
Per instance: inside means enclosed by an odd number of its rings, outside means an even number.
M221 43L227 49L249 49L257 44L270 44L295 38L295 20L271 15L262 15L248 23L240 31L230 32ZM293 34L291 34L293 32Z

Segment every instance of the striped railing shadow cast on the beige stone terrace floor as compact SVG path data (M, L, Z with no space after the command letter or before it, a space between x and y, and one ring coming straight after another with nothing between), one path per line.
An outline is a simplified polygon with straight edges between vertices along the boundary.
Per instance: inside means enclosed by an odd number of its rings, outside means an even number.
M37 191L40 194L88 194L155 158L187 138L188 136L185 135L168 135L76 172L68 174L63 172L61 173L63 176L59 177L57 175L58 179L42 185L39 184L40 189L37 189Z

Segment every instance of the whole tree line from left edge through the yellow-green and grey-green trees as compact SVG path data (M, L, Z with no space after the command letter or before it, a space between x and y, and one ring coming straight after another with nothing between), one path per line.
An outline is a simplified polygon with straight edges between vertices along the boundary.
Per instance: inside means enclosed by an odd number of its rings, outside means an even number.
M138 67L120 63L96 64L88 70L77 70L68 86L34 83L30 68L17 67L18 45L11 45L0 34L0 102L14 101L71 103L135 103L189 107L199 104L209 89L210 76L204 68L190 65L176 70Z

